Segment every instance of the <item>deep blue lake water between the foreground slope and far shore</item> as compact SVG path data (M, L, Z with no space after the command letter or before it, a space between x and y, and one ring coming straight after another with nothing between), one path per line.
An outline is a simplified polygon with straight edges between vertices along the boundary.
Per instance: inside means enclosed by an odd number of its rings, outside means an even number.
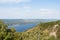
M15 28L17 32L23 32L26 31L32 27L35 27L37 24L36 23L31 23L31 24L17 24L17 25L12 25L8 26L8 28Z

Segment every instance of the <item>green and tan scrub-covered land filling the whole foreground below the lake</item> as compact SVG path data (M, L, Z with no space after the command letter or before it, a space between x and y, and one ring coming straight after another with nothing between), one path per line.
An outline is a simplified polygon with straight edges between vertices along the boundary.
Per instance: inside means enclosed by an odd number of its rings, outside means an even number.
M16 32L14 28L0 21L0 40L60 40L60 20L40 23L25 32Z

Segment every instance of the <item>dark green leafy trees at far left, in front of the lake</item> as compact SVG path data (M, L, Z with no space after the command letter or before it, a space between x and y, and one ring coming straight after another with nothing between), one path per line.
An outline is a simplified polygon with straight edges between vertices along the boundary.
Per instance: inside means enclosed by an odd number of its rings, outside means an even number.
M7 29L7 24L4 24L3 21L0 20L0 40L13 40L15 29L11 28L11 32Z

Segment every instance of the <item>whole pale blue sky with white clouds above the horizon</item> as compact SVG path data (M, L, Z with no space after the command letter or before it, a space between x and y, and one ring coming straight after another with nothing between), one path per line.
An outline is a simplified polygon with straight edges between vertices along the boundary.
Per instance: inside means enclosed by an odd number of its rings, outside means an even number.
M60 0L0 0L0 19L60 19Z

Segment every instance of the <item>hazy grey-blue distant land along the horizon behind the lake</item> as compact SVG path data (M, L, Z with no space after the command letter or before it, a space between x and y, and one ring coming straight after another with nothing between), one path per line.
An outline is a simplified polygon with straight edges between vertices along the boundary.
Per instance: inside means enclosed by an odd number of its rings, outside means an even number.
M58 19L0 19L3 20L7 24L21 24L21 23L39 23L39 22L49 22L56 21Z

